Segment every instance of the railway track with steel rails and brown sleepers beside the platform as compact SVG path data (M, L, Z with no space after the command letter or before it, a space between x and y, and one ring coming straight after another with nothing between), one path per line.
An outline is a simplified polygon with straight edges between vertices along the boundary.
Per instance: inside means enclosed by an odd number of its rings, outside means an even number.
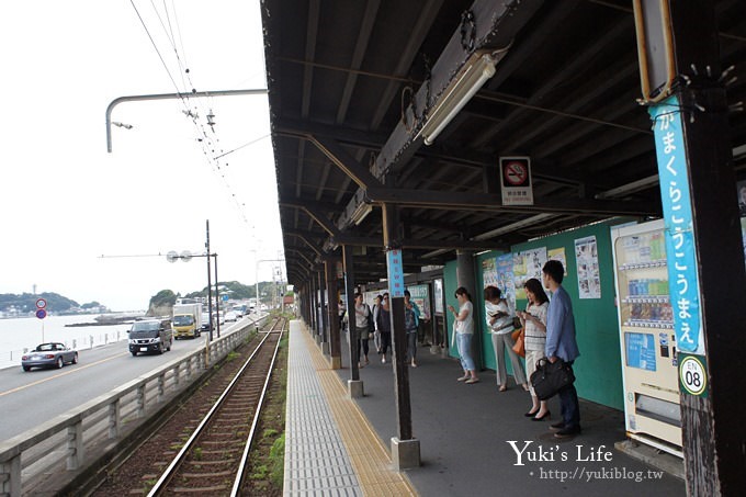
M286 319L275 318L148 497L240 495L261 406L286 326Z

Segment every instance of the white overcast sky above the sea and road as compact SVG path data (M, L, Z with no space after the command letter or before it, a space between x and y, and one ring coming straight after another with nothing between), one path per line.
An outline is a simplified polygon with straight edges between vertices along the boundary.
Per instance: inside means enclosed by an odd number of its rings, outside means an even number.
M200 290L205 259L165 255L203 251L206 219L221 281L253 284L257 266L268 281L280 266L257 262L282 257L264 95L122 103L112 121L133 127L112 127L113 154L105 142L115 98L264 88L259 0L134 5L168 71L129 0L3 9L0 293L36 285L127 310Z

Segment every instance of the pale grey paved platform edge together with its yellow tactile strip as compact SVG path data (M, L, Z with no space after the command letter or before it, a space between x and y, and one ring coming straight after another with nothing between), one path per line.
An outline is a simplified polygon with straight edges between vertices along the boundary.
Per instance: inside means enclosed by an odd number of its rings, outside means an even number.
M284 495L417 495L297 320L287 362Z

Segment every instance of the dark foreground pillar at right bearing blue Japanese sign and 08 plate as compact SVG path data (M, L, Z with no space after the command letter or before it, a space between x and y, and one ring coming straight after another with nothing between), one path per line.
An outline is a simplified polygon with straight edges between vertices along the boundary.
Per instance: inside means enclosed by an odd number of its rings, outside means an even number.
M634 0L679 364L687 493L746 488L746 273L712 2ZM722 271L722 268L727 270Z

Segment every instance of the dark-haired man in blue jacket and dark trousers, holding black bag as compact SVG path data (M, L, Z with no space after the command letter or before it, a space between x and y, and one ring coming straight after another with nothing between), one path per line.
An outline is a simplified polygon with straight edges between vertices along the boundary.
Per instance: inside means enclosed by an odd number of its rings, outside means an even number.
M546 346L544 353L551 362L562 359L572 368L575 359L580 355L578 344L575 341L575 317L573 316L573 302L562 287L565 268L557 260L549 260L542 269L544 287L552 292L550 307L546 310ZM556 432L554 437L565 439L580 433L580 406L578 393L574 384L562 388L560 403L562 406L562 420L552 425Z

